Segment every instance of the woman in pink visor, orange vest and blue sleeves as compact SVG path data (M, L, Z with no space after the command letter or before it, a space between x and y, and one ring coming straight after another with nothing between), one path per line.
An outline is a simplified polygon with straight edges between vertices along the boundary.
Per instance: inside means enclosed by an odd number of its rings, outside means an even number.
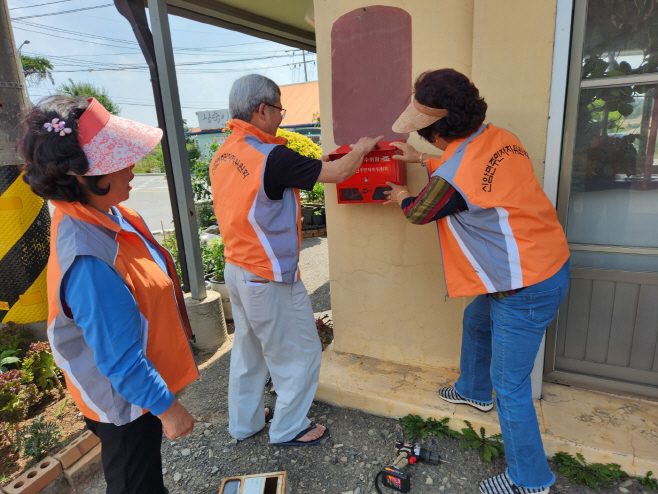
M162 430L174 439L194 427L174 398L198 370L173 259L120 205L161 137L94 98L48 98L21 123L23 179L55 206L48 339L101 440L108 493L167 492Z

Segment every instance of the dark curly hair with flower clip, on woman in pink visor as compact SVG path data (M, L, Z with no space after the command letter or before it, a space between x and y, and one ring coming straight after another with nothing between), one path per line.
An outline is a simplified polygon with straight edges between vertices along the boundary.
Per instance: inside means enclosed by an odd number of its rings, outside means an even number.
M32 192L44 199L87 204L87 190L102 196L109 192L109 186L102 189L98 181L104 175L84 177L84 187L74 175L82 175L89 169L89 162L78 143L78 119L89 106L84 98L50 96L37 106L30 108L19 126L16 150L23 158L23 180ZM54 118L66 121L72 130L60 136L48 132L44 124Z

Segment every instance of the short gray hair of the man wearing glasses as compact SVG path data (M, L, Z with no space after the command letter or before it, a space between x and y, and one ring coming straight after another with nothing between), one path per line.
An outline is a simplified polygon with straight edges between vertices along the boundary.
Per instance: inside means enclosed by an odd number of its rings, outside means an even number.
M261 103L276 105L281 97L279 86L272 79L259 74L248 74L237 79L228 95L231 118L249 122L251 114Z

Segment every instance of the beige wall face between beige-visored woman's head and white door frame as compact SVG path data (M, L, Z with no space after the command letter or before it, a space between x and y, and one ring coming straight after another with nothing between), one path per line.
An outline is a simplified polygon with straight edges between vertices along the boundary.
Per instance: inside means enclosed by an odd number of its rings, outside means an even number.
M487 122L516 134L544 177L556 0L476 0L471 79ZM565 61L566 63L566 61Z

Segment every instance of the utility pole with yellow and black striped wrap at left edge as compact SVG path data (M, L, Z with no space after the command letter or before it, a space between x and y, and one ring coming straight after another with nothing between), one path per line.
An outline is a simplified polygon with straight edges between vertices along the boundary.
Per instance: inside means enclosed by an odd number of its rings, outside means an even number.
M27 107L7 0L0 0L0 322L40 322L48 316L46 266L50 213L21 177L14 148Z

